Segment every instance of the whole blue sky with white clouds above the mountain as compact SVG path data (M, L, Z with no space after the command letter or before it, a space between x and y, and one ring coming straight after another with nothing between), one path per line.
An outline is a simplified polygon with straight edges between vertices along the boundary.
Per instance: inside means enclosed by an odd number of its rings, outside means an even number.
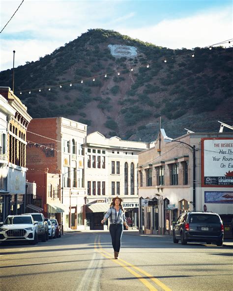
M0 0L0 30L22 0ZM232 0L24 0L0 33L0 71L36 61L87 29L113 29L171 49L233 35ZM231 44L232 45L232 44Z

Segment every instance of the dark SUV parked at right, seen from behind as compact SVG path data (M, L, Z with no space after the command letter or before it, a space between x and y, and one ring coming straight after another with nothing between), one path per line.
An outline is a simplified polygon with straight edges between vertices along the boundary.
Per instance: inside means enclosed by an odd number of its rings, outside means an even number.
M217 246L223 245L223 222L217 213L213 212L185 212L182 213L173 229L173 241L199 241Z

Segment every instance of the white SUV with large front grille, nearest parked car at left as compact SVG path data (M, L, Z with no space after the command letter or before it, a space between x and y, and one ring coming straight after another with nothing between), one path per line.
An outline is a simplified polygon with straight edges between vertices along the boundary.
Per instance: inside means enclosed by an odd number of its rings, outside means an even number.
M8 215L4 222L0 222L0 241L2 244L16 241L36 244L38 221L35 221L31 215Z

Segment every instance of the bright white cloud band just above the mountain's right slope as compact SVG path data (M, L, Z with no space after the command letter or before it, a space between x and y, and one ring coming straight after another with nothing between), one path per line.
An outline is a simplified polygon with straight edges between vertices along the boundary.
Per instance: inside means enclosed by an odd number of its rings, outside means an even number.
M180 19L163 20L140 29L118 28L130 35L158 46L195 48L232 38L232 9L211 10Z

